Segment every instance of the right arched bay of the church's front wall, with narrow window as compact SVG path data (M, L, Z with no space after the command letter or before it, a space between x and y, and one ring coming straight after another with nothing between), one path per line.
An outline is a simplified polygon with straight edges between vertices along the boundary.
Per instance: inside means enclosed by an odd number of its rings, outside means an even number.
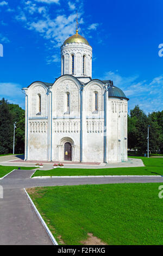
M95 110L95 92L98 109ZM104 161L104 87L98 80L87 83L83 90L83 161Z

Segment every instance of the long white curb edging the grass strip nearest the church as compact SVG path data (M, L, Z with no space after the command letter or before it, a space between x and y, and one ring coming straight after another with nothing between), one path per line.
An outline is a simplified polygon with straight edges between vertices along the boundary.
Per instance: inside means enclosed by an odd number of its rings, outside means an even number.
M163 177L162 175L88 175L88 176L35 176L32 179L48 178L123 178L123 177Z

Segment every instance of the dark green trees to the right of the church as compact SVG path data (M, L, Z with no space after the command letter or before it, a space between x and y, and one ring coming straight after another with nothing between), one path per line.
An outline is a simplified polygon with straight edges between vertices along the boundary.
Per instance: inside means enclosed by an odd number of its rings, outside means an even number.
M139 153L147 151L149 126L149 150L163 153L163 111L146 114L139 106L130 110L128 115L128 148Z

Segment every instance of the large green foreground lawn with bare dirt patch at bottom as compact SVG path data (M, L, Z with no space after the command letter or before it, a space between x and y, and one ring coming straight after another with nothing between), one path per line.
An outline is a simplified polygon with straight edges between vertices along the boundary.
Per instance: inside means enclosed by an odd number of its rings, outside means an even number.
M163 245L160 185L57 186L28 192L59 243L80 245L92 233L108 245Z

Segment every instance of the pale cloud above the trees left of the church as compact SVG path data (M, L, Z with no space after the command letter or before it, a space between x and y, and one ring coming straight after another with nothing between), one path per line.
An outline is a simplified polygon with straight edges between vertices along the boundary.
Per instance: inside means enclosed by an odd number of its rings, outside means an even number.
M0 83L0 99L8 99L10 103L18 104L24 108L24 94L22 86L17 83Z

